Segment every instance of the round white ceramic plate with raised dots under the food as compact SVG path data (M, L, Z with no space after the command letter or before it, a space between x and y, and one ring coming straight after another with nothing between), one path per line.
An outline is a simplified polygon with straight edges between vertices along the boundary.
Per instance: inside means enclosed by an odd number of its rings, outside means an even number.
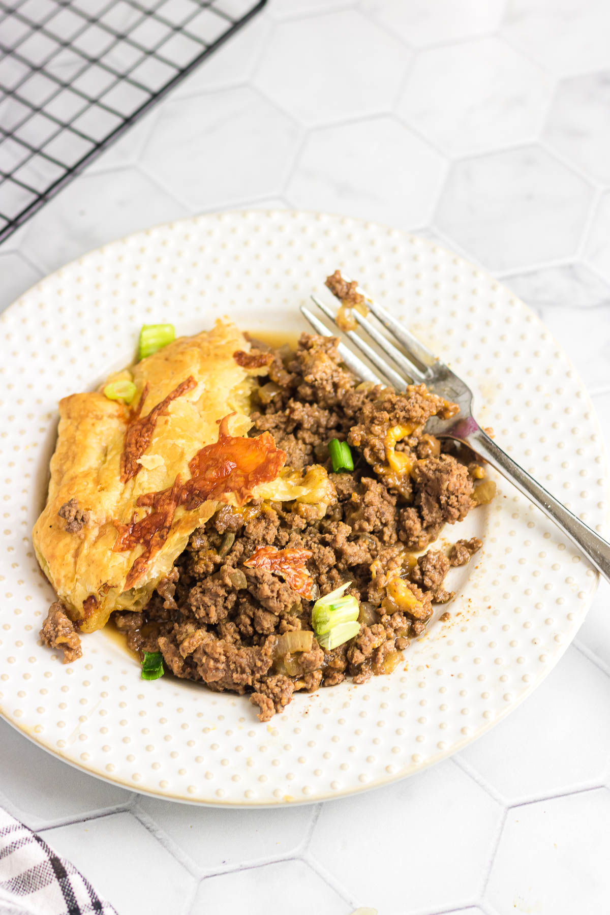
M300 212L204 216L113 242L48 276L0 318L2 714L61 759L137 791L190 802L311 802L399 779L504 716L553 665L597 577L508 483L445 528L482 536L452 571L436 622L389 677L296 695L261 725L246 697L213 694L137 662L104 631L64 666L37 640L54 599L30 532L45 498L59 398L134 358L142 323L178 333L228 314L243 329L305 328L298 306L336 267L356 276L476 393L498 443L598 530L607 468L594 409L530 310L491 277L386 227Z

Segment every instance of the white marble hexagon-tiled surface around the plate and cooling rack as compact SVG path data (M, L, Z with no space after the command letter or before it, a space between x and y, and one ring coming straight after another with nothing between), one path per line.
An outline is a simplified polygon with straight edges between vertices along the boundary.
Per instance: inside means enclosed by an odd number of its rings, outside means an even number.
M91 248L198 211L381 221L523 298L582 375L607 443L609 34L606 0L269 0L6 242L0 306ZM472 332L488 345L488 328ZM573 507L593 477L575 475ZM206 809L95 780L0 722L0 805L119 915L598 915L609 702L603 586L536 693L409 780L312 806Z

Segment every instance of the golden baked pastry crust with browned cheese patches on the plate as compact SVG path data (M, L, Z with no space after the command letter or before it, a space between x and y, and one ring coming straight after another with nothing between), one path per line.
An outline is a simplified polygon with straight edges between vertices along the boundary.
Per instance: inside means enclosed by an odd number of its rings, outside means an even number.
M33 541L80 630L144 607L219 500L239 506L278 476L285 454L273 437L244 437L252 376L264 371L248 350L233 324L217 321L113 375L134 382L131 405L109 400L103 385L59 403Z

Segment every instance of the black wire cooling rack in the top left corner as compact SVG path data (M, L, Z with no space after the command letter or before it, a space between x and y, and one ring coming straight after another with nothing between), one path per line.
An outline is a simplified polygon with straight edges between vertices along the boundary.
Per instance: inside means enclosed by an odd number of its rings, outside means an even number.
M0 242L266 0L0 0Z

